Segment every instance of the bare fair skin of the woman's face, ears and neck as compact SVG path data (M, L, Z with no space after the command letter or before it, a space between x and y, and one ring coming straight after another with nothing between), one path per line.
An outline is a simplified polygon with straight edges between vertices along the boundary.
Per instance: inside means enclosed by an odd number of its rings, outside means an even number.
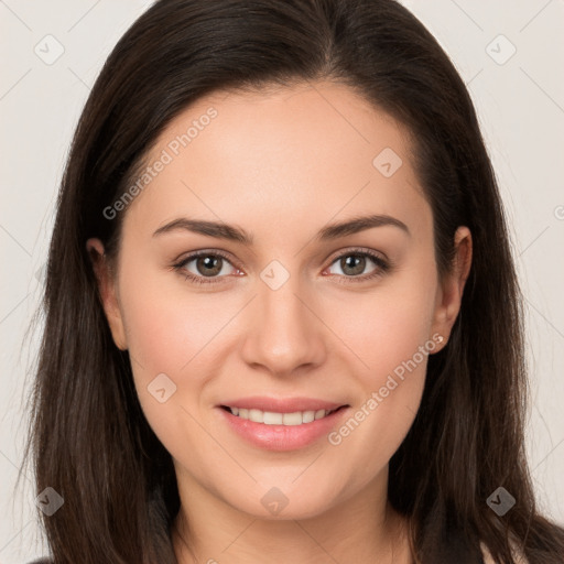
M324 437L285 453L260 449L214 406L270 394L360 409L433 335L444 337L433 354L447 344L470 232L457 230L455 264L440 280L408 131L341 85L215 93L169 124L149 161L210 106L217 117L124 212L115 271L102 243L87 242L113 340L129 350L142 409L174 460L178 562L196 562L184 538L203 563L259 563L268 551L272 563L406 564L406 523L387 499L388 464L417 412L426 356L339 445ZM384 148L402 159L390 177L372 165ZM370 213L403 221L410 235L381 226L315 239L328 223ZM235 224L253 245L188 230L153 237L180 217ZM338 259L357 247L393 268L355 281L379 269L367 258L351 274ZM171 268L199 249L228 254L219 283L196 285ZM272 260L290 274L276 291L260 278ZM186 269L204 278L195 260ZM177 388L160 403L148 386L163 372ZM272 487L289 500L276 516L261 503Z

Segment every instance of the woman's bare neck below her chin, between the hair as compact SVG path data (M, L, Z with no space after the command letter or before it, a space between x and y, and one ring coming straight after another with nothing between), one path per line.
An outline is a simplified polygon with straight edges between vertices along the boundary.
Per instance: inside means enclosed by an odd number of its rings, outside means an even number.
M387 471L306 519L264 519L241 512L197 482L187 487L186 481L178 480L181 510L173 529L178 564L262 564L267 554L271 564L412 562L406 520L387 500Z

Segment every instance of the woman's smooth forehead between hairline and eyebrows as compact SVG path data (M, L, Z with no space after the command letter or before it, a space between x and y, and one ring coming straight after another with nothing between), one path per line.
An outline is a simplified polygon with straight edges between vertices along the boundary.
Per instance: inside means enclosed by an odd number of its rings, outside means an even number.
M189 215L288 230L370 208L425 229L411 162L408 131L344 85L217 91L160 134L126 223L158 228Z

